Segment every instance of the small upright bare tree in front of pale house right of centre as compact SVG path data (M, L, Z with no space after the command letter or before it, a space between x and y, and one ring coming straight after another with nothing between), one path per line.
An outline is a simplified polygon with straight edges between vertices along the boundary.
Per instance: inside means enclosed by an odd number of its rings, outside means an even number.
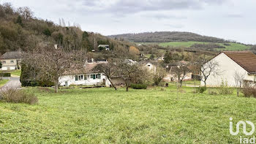
M174 77L178 78L178 83L181 87L183 80L189 74L190 69L188 68L188 64L179 64L178 66L173 67L171 72L173 73Z

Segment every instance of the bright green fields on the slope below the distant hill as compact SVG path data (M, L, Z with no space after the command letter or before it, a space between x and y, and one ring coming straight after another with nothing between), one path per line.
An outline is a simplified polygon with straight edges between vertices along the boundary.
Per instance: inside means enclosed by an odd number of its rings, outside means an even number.
M163 43L159 43L160 46L163 47L167 47L167 46L173 46L173 47L190 47L194 44L207 44L209 42L163 42ZM217 50L248 50L249 47L247 47L246 45L241 45L241 44L237 44L237 43L229 43L230 45L223 45L223 44L219 44L222 46L225 46L225 49L217 49Z

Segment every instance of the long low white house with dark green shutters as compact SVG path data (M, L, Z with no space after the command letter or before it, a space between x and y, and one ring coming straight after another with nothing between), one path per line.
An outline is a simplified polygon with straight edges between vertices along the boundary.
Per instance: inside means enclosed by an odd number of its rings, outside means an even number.
M84 69L74 69L66 72L66 75L59 77L60 86L70 85L105 85L109 86L110 82L105 75L99 70L94 69L99 63L88 63Z

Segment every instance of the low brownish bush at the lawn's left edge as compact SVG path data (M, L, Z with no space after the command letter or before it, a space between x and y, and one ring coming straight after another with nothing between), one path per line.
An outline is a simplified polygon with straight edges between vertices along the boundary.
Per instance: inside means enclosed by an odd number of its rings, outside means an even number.
M34 94L28 94L25 91L16 88L9 88L1 91L0 99L2 102L26 103L29 105L38 102L37 96L34 96Z

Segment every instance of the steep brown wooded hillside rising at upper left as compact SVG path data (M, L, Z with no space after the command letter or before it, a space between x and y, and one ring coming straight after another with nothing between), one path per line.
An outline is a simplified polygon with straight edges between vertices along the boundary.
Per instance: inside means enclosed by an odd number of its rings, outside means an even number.
M59 24L35 18L29 7L0 4L0 53L10 50L33 50L39 45L58 44L71 50L97 51L98 45L110 49L128 47L129 43L86 32L78 24L69 26L63 19ZM68 25L68 26L67 26Z

